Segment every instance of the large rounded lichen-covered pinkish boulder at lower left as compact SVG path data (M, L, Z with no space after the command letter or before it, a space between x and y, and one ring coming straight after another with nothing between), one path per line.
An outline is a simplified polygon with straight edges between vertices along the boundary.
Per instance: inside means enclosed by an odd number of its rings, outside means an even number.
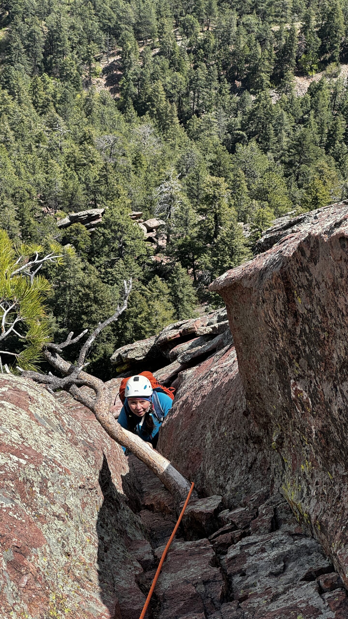
M137 619L148 543L122 449L64 392L2 374L0 401L0 616Z

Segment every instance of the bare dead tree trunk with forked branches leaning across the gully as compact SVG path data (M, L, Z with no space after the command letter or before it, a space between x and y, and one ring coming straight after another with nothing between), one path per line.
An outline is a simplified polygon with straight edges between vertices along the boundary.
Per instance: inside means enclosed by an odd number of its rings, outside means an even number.
M77 337L72 337L73 333L69 333L65 342L61 344L48 343L43 348L43 356L45 360L53 366L56 372L63 374L61 378L54 376L53 374L41 374L35 371L25 371L22 368L18 368L23 376L31 378L33 381L45 384L46 388L50 392L54 392L57 389L64 389L70 393L76 400L84 404L90 409L100 425L104 430L113 438L116 443L126 447L131 451L134 456L138 457L144 464L154 472L161 480L163 485L172 493L176 501L180 502L188 494L190 484L176 470L172 464L159 452L152 449L149 443L143 441L139 436L124 430L120 423L118 423L110 412L111 406L111 393L108 387L99 378L95 378L91 374L87 374L84 368L88 363L85 362L85 358L91 345L93 344L97 335L105 329L111 322L115 322L121 313L126 309L128 304L129 293L131 292L131 280L124 282L124 300L121 306L115 311L113 316L110 316L107 320L98 325L97 329L88 337L82 346L79 358L76 365L72 365L69 361L65 361L59 353L63 348L66 348L70 344L76 344L80 338L87 333L83 331ZM95 397L89 396L85 390L81 387L90 387L95 392Z

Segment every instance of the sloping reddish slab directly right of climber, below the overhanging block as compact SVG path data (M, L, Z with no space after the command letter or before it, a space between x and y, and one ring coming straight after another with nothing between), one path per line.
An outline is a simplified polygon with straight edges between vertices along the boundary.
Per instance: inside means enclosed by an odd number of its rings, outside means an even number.
M272 459L248 412L232 345L183 371L172 412L163 422L159 451L194 481L198 491L241 499L271 484ZM181 376L180 374L180 376Z

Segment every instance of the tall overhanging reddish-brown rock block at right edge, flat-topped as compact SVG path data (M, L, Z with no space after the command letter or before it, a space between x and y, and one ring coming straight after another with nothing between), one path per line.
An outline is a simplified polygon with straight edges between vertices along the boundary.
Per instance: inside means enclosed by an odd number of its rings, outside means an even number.
M348 204L308 213L222 275L252 423L282 491L348 586Z

